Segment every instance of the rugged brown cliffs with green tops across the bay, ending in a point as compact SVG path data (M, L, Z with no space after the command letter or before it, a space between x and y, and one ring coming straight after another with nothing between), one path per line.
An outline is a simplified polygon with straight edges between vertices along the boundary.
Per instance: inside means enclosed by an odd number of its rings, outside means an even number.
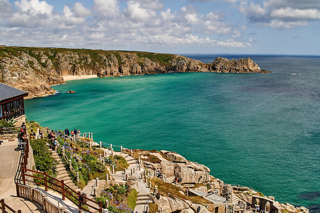
M105 51L0 46L0 82L29 92L30 97L54 94L50 86L65 83L62 76L98 77L175 72L259 72L252 59L217 57L202 63L180 55L136 51Z

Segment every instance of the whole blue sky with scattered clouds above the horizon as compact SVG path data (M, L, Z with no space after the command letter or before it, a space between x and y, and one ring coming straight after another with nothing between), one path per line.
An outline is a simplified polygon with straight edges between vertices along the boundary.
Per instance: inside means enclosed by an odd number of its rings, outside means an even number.
M319 55L320 0L0 0L0 45Z

